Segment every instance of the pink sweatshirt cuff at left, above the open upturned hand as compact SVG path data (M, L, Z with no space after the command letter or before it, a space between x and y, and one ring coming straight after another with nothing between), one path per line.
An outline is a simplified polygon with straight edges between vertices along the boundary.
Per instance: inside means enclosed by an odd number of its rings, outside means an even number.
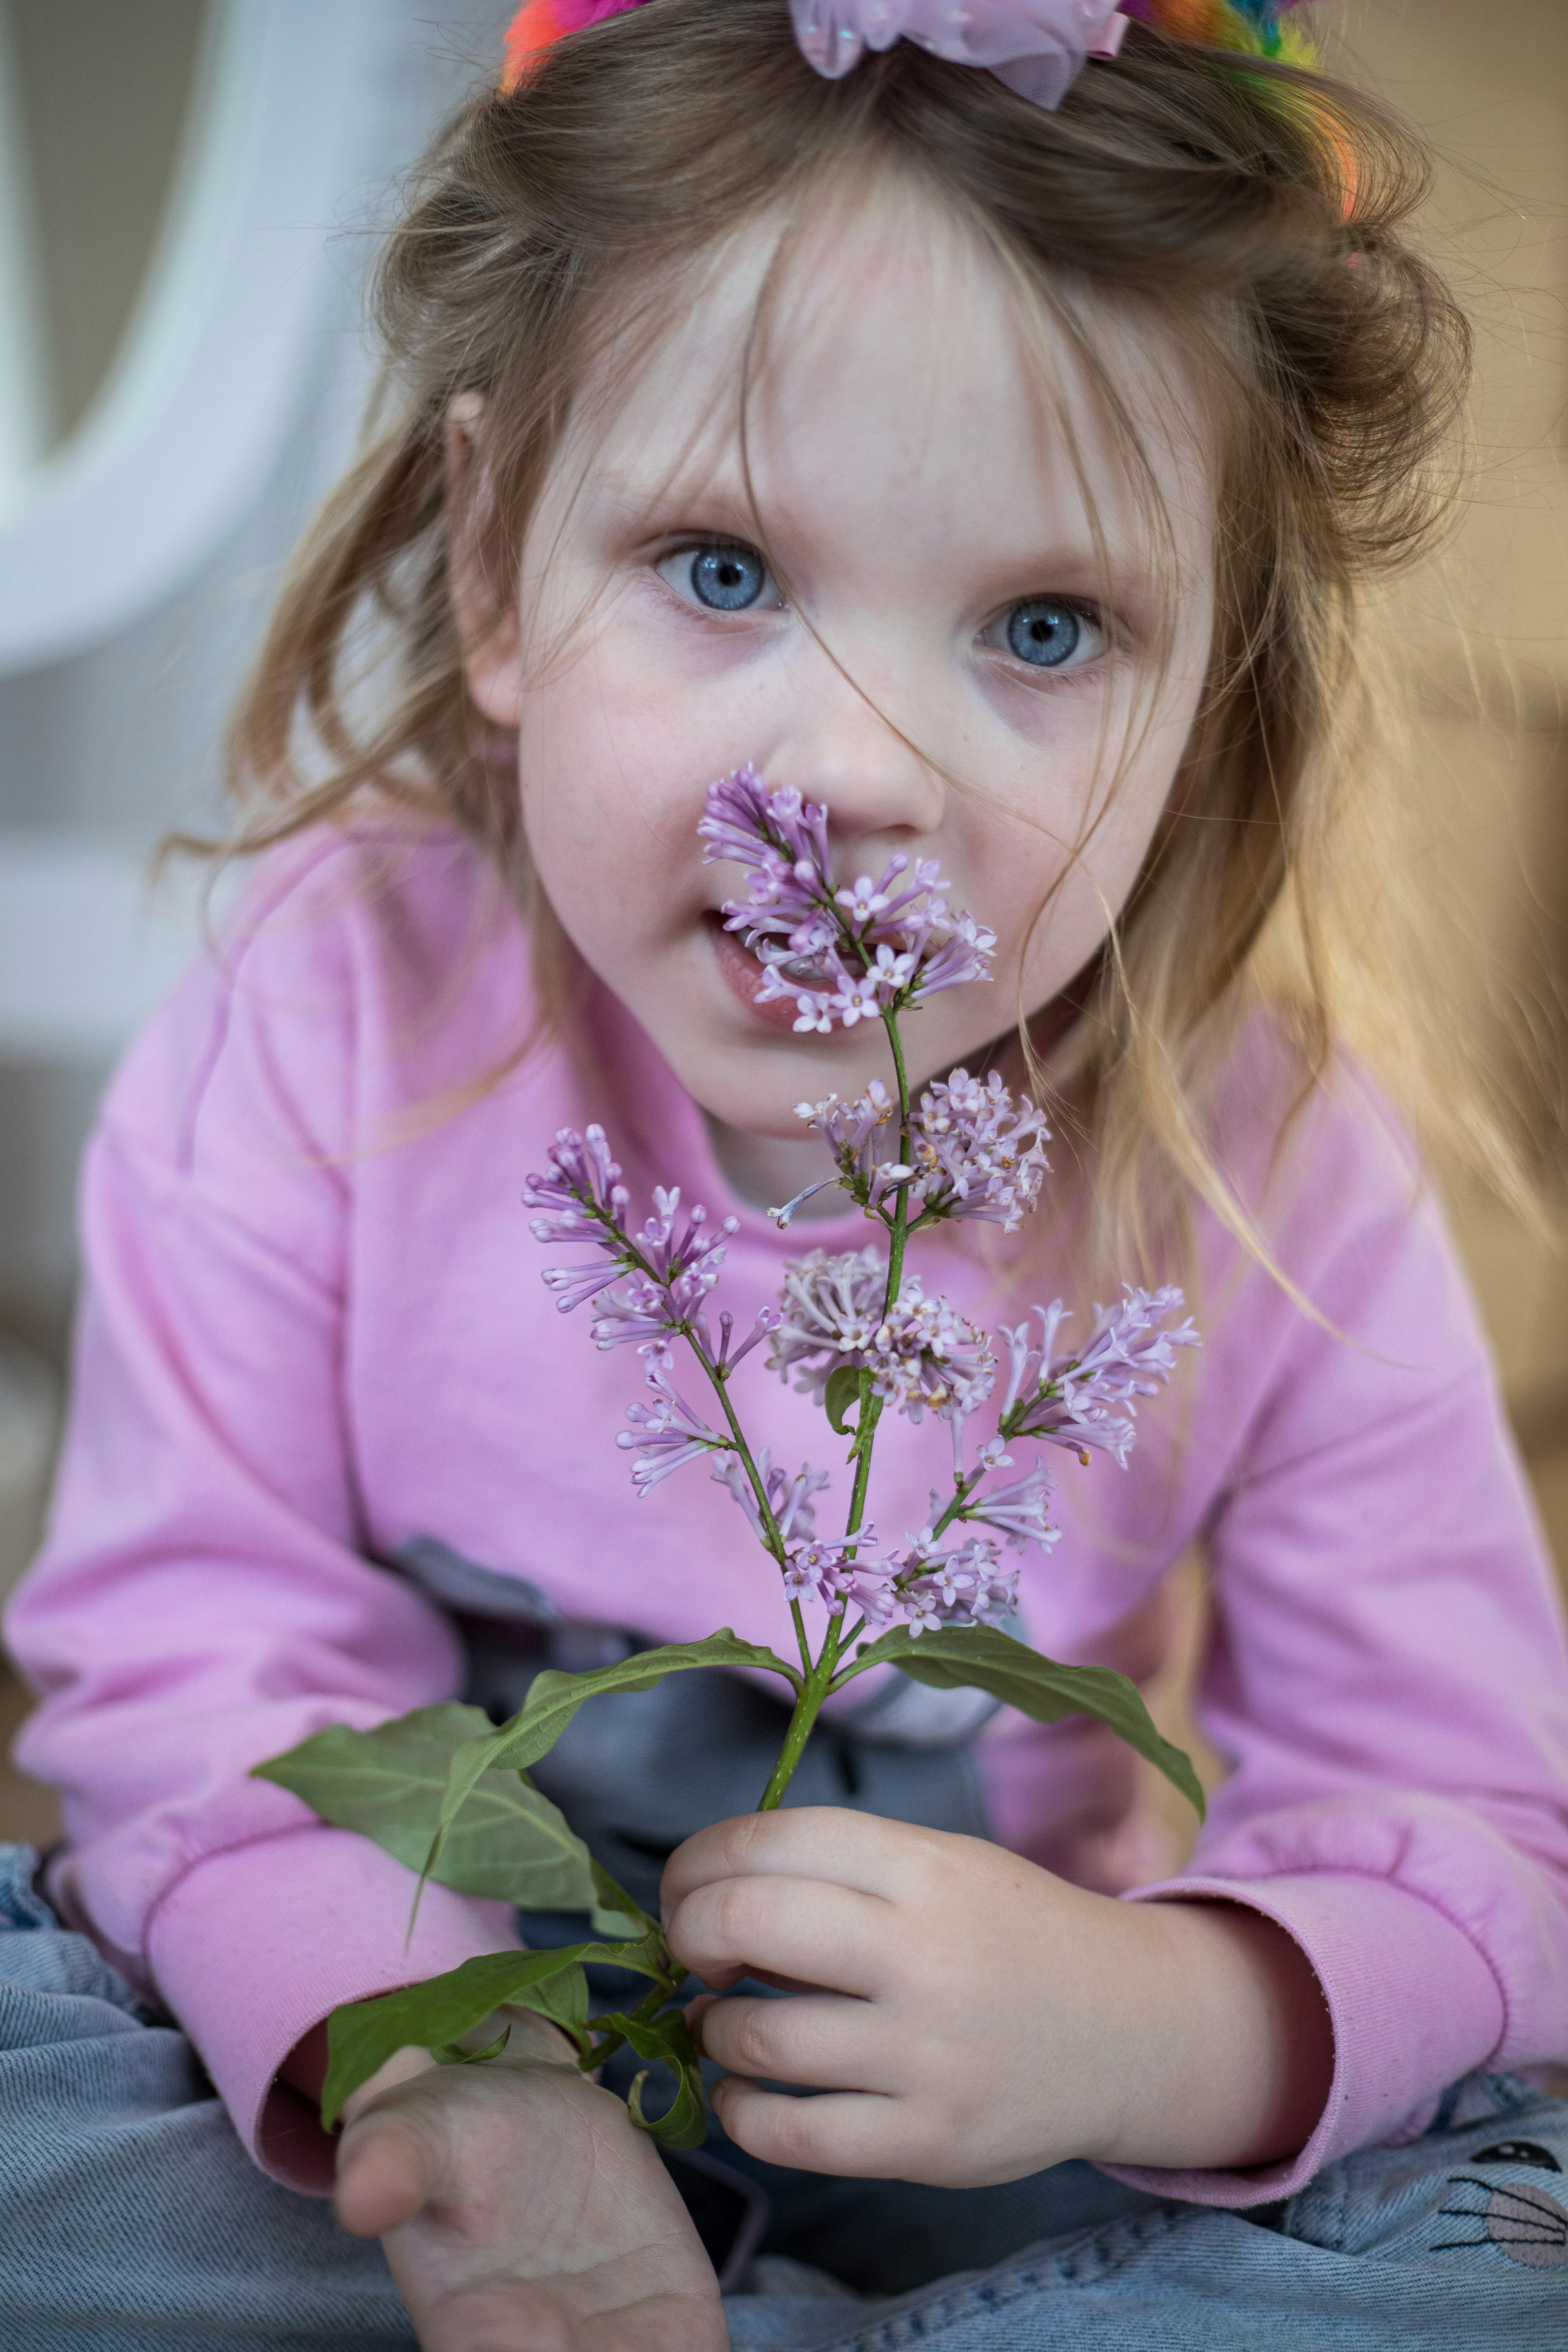
M292 2190L331 2192L334 2140L315 2103L277 2082L294 2044L339 2002L442 1976L517 1947L510 1903L425 1886L353 1830L303 1828L214 1853L148 1926L160 1999L186 2030L256 2164Z

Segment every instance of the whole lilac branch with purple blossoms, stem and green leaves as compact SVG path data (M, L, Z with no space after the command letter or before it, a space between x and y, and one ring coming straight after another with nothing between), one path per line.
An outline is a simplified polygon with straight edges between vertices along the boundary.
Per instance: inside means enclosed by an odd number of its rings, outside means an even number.
M762 964L759 1002L795 997L795 1028L802 1033L820 1035L835 1023L853 1028L872 1014L884 1025L893 1091L872 1080L856 1103L827 1096L802 1103L799 1115L832 1155L835 1174L825 1183L837 1183L860 1204L879 1237L886 1235L886 1247L879 1240L860 1251L830 1256L818 1249L790 1261L780 1303L764 1308L738 1341L733 1315L719 1312L715 1341L708 1303L738 1218L712 1225L701 1204L682 1214L677 1190L654 1188L654 1214L632 1232L630 1195L602 1127L588 1127L581 1136L562 1129L550 1148L548 1171L529 1176L524 1200L536 1211L534 1232L541 1242L592 1251L583 1263L548 1268L543 1279L559 1312L592 1305L595 1343L604 1350L635 1348L642 1357L646 1395L628 1406L625 1428L616 1437L632 1456L637 1494L649 1496L677 1470L708 1463L710 1477L729 1491L778 1566L799 1644L799 1672L771 1649L724 1630L585 1675L538 1677L510 1724L487 1736L468 1736L465 1729L454 1733L456 1748L421 1886L435 1875L447 1832L487 1764L524 1766L527 1773L527 1764L559 1738L588 1698L611 1689L646 1689L670 1672L710 1665L764 1668L783 1675L795 1691L762 1811L780 1804L825 1698L856 1675L889 1663L917 1679L969 1682L1039 1722L1088 1712L1157 1762L1201 1811L1201 1788L1190 1762L1159 1736L1133 1684L1105 1668L1044 1658L1009 1635L1020 1566L1004 1559L1006 1552L1023 1555L1030 1545L1048 1550L1058 1541L1048 1519L1051 1475L1044 1454L1027 1458L1018 1475L1009 1446L1058 1446L1084 1463L1103 1451L1126 1463L1138 1402L1171 1376L1180 1348L1197 1345L1192 1322L1171 1327L1182 1305L1180 1291L1128 1287L1114 1305L1095 1308L1084 1348L1063 1352L1058 1338L1067 1315L1060 1301L1034 1308L1016 1329L1004 1329L997 1348L992 1334L907 1275L905 1251L914 1235L940 1221L964 1218L999 1223L1004 1232L1013 1232L1034 1207L1046 1174L1046 1122L1030 1101L1013 1101L999 1073L971 1077L969 1070L952 1070L926 1084L919 1103L912 1101L900 1014L940 988L990 978L994 938L947 906L947 884L933 861L917 861L910 873L910 861L893 856L877 880L858 875L837 887L827 854L827 811L802 804L797 793L769 793L752 769L712 786L701 835L708 858L733 858L748 875L745 903L726 903L724 917L745 934ZM799 1202L790 1202L776 1211L778 1223L788 1225L797 1207ZM701 1367L717 1414L712 1404L698 1409L675 1385L677 1341ZM733 1376L764 1343L769 1367L785 1381L795 1376L797 1388L818 1399L830 1428L853 1439L844 1534L825 1534L816 1524L816 1501L827 1486L827 1472L809 1463L795 1472L776 1465L766 1446L752 1449L741 1425L731 1397ZM999 1378L1004 1392L997 1404ZM966 1458L966 1423L983 1406L994 1435ZM846 1421L851 1409L853 1425ZM952 1437L952 1486L945 1496L931 1491L926 1522L900 1541L879 1536L867 1515L872 1449L886 1411L912 1423L924 1423L926 1416L945 1421ZM816 1651L806 1606L823 1606L827 1613ZM867 1632L879 1637L863 1642ZM931 1675L914 1663L914 1642L922 1642ZM421 1757L430 1738L428 1712L411 1719L418 1722ZM465 1710L435 1712L461 1717ZM374 1733L334 1726L317 1740L306 1740L296 1755L273 1759L280 1771L263 1771L306 1792L308 1802L317 1802L310 1785L329 1783L336 1795L317 1804L322 1818L360 1825L353 1820L360 1802L353 1788L348 1813L339 1804L343 1766L336 1745L331 1762L310 1764L303 1780L282 1766L299 1766L320 1738L376 1743L395 1733L397 1724ZM386 1823L381 1755L371 1780L371 1835L402 1851ZM567 1828L562 1816L555 1816L555 1828L534 1820L543 1851L527 1858L515 1882L517 1898L527 1898L527 1889L536 1884L541 1860L559 1872ZM425 1818L418 1830L428 1835ZM501 1830L505 1837L515 1825L503 1823ZM400 1820L395 1832L407 1839L407 1823ZM701 2065L684 2020L668 2011L679 1994L679 1964L658 1924L590 1863L585 1849L578 1846L576 1856L578 1891L588 1896L592 1889L599 1907L621 1912L635 1933L616 1945L581 1945L564 1955L569 1964L559 1969L559 1985L527 1973L508 1973L505 1983L527 1992L527 2006L564 2025L578 2044L583 2067L602 2065L625 2042L639 2056L663 2058L677 2072L679 2096L665 2117L649 2122L632 2089L632 2122L672 2145L698 2145ZM505 1865L512 1867L510 1858ZM482 1856L482 1889L473 1884L480 1867L473 1853L463 1867L468 1877L449 1875L447 1884L494 1891L489 1849ZM597 1957L616 1957L654 1978L628 2016L614 2011L588 2018L583 1962ZM501 1959L508 1971L536 1971L531 1955L491 1959ZM355 2042L350 2058L334 2042L339 2086L331 2089L331 2100L341 2100L341 2084L350 2074L353 2082L369 2079L381 2042L386 2049L404 2046L423 2032L425 2046L442 2060L494 2056L501 2044L480 2053L461 2046L463 2018L477 2023L494 2006L496 1978L470 1983L473 1969L489 1969L489 1962L468 1962L430 1987L414 1987L421 1994L414 2013L409 1992L341 2011L348 2018L378 2011L381 2023ZM470 2002L477 2006L468 2009ZM393 2016L386 2013L388 2004ZM360 2032L360 2023L353 2032Z

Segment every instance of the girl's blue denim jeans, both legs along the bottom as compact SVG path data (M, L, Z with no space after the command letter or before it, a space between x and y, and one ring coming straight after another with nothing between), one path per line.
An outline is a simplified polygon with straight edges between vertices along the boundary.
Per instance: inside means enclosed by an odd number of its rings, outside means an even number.
M254 2169L31 1875L0 1846L5 2352L411 2352L381 2251ZM712 2154L771 2206L736 2352L1568 2352L1568 2100L1509 2079L1255 2220L1081 2164L950 2192Z

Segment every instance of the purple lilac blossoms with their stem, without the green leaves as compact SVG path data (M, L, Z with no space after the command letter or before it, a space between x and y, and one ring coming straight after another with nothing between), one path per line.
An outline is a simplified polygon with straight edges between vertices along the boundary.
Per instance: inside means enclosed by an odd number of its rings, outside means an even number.
M1027 1098L1016 1101L999 1073L952 1070L912 1098L900 1014L943 988L987 981L994 936L954 913L936 861L903 854L879 877L839 887L827 847L827 811L799 793L769 793L755 769L738 769L708 793L698 826L705 861L726 858L745 873L745 898L724 903L762 964L757 1002L795 1000L799 1033L823 1035L877 1016L889 1040L893 1091L872 1080L856 1103L827 1096L797 1112L832 1155L837 1183L886 1235L879 1249L790 1261L778 1308L764 1308L736 1345L733 1319L719 1315L715 1345L705 1303L724 1263L736 1218L710 1228L701 1207L684 1223L677 1190L654 1192L654 1216L628 1230L628 1192L604 1131L562 1131L550 1174L529 1181L534 1232L550 1242L588 1242L597 1263L550 1268L545 1282L562 1312L595 1303L599 1348L635 1345L646 1362L651 1402L628 1409L618 1444L635 1456L632 1479L651 1494L675 1470L708 1458L778 1564L802 1656L802 1689L778 1766L762 1797L780 1802L823 1698L865 1672L863 1653L844 1665L867 1628L1001 1625L1013 1606L1018 1569L1004 1550L1048 1548L1051 1477L1044 1465L1011 1482L1009 1444L1063 1446L1081 1461L1105 1451L1124 1463L1138 1399L1154 1395L1175 1367L1175 1350L1197 1343L1190 1322L1164 1329L1180 1291L1128 1289L1095 1324L1077 1355L1058 1355L1060 1301L1034 1308L1039 1338L1025 1319L1004 1329L1006 1388L994 1430L973 1465L964 1465L961 1430L994 1392L999 1359L992 1338L950 1301L905 1277L910 1240L943 1221L985 1221L1016 1232L1037 1204L1048 1171L1048 1129ZM773 1211L780 1228L799 1200ZM604 1263L607 1261L607 1263ZM719 1402L708 1423L672 1385L672 1345L684 1341ZM842 1536L816 1529L813 1496L823 1472L788 1477L766 1449L752 1451L729 1395L741 1362L769 1343L769 1367L818 1397L835 1430L851 1437L853 1482ZM846 1414L853 1409L853 1423ZM867 1519L872 1449L884 1411L919 1423L947 1421L954 1444L952 1491L933 1494L926 1524L886 1545ZM804 1604L827 1609L820 1646L811 1649Z

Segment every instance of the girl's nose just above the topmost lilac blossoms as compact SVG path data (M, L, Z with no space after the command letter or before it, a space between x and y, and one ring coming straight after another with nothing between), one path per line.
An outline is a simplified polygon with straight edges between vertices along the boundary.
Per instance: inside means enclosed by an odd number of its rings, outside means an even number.
M884 696L818 649L769 762L769 783L792 783L802 800L825 802L830 833L846 847L872 835L933 835L947 811L947 786L919 746L914 701Z

